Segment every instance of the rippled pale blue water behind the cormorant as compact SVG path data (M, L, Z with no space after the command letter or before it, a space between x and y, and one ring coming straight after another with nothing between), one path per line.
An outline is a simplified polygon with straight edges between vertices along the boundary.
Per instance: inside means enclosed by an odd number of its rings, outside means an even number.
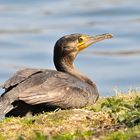
M24 67L54 69L53 46L65 34L108 32L113 39L75 61L102 96L140 87L139 0L0 0L0 83Z

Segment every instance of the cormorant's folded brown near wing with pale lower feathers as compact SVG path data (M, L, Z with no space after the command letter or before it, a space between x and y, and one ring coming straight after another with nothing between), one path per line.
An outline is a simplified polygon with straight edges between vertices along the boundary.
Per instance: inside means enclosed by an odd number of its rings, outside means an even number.
M48 74L43 72L38 76L34 75L29 81L26 80L27 84L32 83L32 85L28 84L30 87L20 92L19 100L31 105L47 104L62 108L81 107L87 104L86 88L77 87L77 79L65 73L55 72ZM41 83L33 82L37 77L42 79Z

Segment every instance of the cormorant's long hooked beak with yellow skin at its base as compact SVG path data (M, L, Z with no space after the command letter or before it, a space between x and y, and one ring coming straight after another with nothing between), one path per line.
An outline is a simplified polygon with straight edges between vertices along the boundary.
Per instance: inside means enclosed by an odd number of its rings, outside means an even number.
M82 41L78 43L77 48L79 51L81 51L96 42L99 42L105 39L110 39L112 37L113 35L109 33L96 35L96 36L82 35L81 36Z

